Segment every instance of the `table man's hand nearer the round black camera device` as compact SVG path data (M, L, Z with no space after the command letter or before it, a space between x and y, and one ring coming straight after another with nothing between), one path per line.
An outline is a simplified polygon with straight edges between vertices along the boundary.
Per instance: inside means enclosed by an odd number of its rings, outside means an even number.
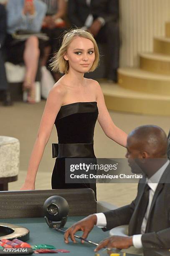
M97 217L95 214L89 215L88 217L84 218L83 220L78 221L74 225L72 225L70 228L68 228L64 234L64 241L65 243L69 243L69 236L71 240L76 243L74 234L81 230L83 231L82 238L87 238L90 231L94 228L94 225L96 225ZM84 243L82 240L81 243Z

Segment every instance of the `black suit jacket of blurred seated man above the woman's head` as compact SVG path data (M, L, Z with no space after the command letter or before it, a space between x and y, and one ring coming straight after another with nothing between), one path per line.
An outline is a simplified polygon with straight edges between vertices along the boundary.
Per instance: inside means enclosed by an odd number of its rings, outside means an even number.
M86 5L86 0L69 0L68 16L72 25L84 26L90 13L94 20L102 17L106 23L117 21L119 19L119 0L91 0L90 6Z

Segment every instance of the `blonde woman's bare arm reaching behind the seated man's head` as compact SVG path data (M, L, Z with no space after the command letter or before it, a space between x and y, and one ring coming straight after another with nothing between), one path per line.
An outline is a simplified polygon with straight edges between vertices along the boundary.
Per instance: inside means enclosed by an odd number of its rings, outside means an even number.
M101 87L98 82L96 82L96 101L97 106L99 109L99 116L98 121L103 129L104 133L107 137L111 138L113 141L117 142L118 144L126 147L127 143L127 134L118 128L112 121L112 118L109 115L107 110L104 95L101 91Z

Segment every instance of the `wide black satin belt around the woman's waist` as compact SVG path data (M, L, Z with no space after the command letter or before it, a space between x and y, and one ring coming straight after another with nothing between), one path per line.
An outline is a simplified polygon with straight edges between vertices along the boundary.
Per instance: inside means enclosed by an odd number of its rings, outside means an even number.
M58 157L86 157L95 158L93 143L65 143L52 144L53 158Z

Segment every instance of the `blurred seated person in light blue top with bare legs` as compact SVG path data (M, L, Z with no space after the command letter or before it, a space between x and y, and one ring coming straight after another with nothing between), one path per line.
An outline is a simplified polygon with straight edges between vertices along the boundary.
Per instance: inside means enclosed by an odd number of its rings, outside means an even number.
M42 48L41 41L34 33L41 31L45 14L46 5L40 0L8 0L7 57L13 64L25 64L23 90L28 91L28 103L35 103L35 79ZM15 34L18 33L28 33L28 38L17 39Z

